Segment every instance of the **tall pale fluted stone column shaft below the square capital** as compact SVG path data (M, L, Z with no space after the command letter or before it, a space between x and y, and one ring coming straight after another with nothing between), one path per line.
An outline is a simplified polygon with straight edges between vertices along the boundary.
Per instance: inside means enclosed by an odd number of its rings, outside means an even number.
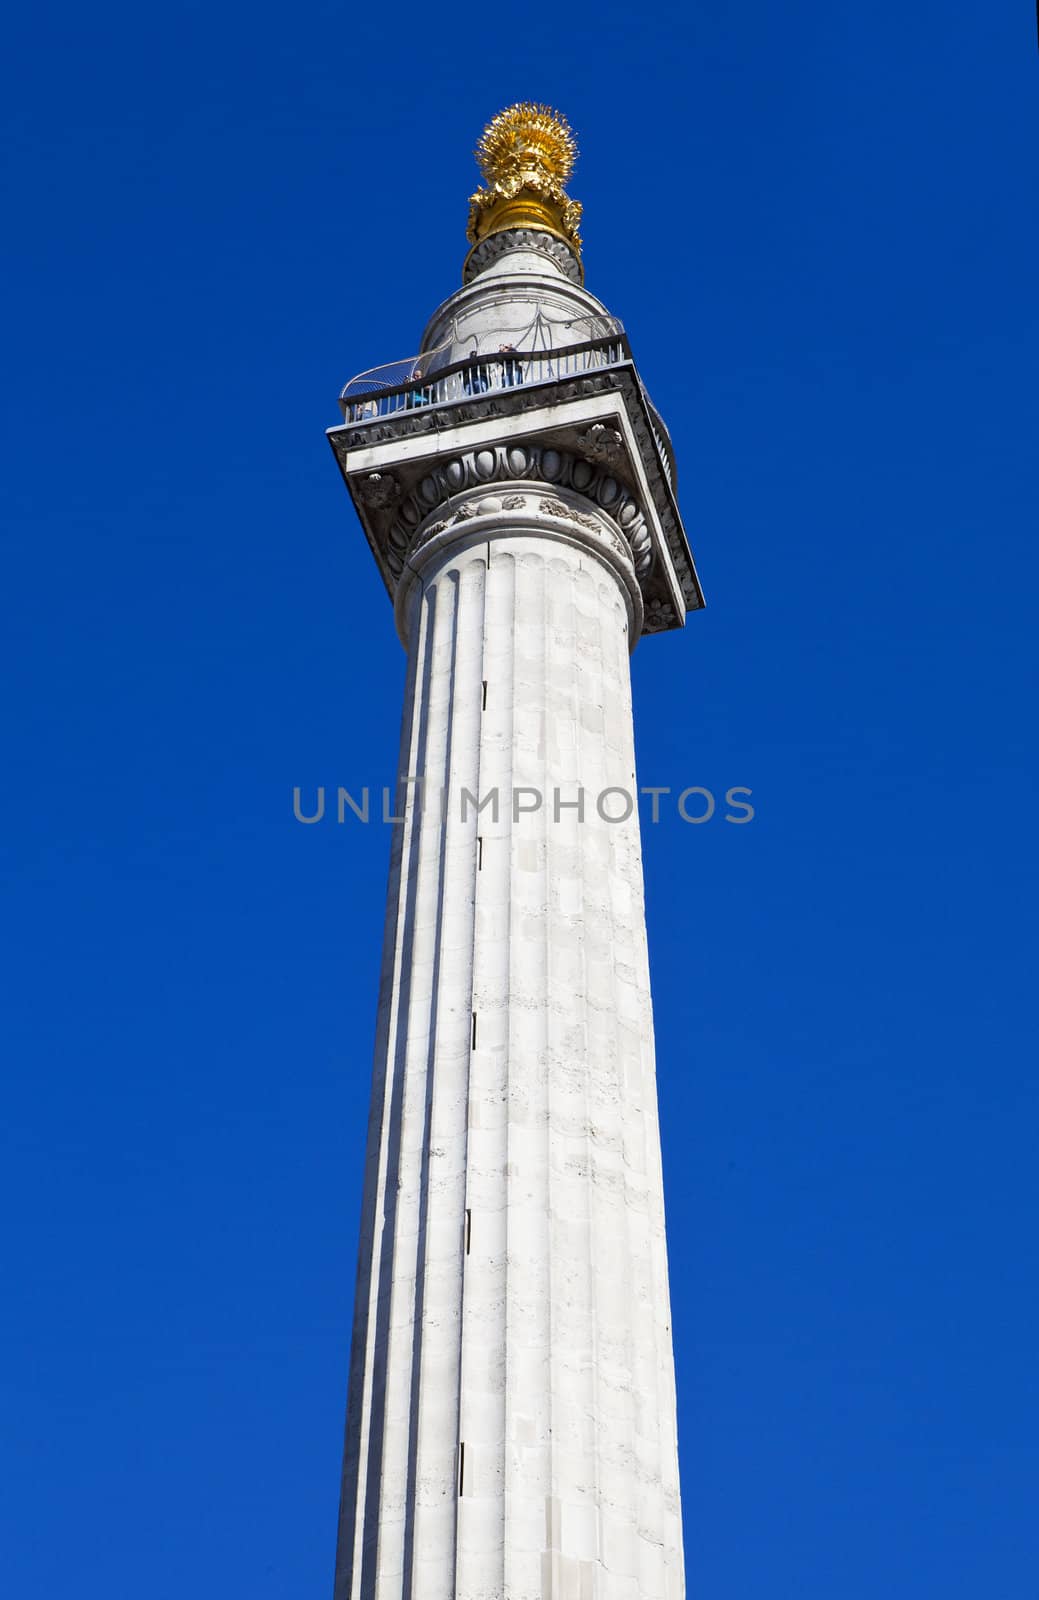
M631 539L572 488L464 490L395 605L336 1600L677 1600Z

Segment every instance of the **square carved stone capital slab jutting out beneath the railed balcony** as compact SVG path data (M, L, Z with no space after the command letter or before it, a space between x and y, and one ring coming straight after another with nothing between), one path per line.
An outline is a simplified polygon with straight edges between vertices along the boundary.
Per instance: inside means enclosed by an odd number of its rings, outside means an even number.
M589 341L576 355L509 352L456 363L351 403L328 442L391 597L419 530L464 520L455 496L471 506L509 486L538 518L541 501L557 496L570 531L580 526L575 515L599 522L605 512L639 589L632 637L682 627L685 613L703 606L671 445L623 336Z

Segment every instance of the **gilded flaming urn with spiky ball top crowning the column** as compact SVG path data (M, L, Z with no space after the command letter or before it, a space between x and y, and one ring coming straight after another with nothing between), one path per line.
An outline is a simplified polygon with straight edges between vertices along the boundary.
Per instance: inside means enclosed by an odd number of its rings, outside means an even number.
M469 200L469 240L536 227L580 251L581 206L564 189L576 154L570 123L551 106L522 101L499 110L475 147L487 187Z

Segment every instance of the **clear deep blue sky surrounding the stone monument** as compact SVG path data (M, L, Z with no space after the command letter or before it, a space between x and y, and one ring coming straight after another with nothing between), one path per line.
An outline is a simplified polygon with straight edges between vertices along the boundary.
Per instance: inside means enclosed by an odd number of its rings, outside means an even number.
M403 656L322 430L581 139L709 610L634 658L690 1597L1036 1600L1029 5L6 24L11 1600L330 1594Z

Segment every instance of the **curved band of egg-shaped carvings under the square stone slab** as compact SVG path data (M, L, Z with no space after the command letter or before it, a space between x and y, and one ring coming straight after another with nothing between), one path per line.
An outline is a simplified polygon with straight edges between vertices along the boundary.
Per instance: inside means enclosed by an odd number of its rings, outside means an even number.
M612 430L602 429L600 432L608 434ZM564 506L562 510L556 510L556 515L568 518L586 515L586 526L591 528L600 525L596 510L604 510L610 523L620 530L631 550L636 576L642 579L648 573L653 563L650 530L645 512L624 483L607 472L600 462L588 461L583 456L575 456L562 450L549 450L543 445L512 443L495 445L487 450L469 450L453 461L445 461L443 466L434 467L411 494L402 499L387 538L387 563L394 578L400 576L403 563L415 547L418 530L432 512L451 499L451 496L501 482L532 482L535 485L543 483L549 491L575 491L581 501L588 502L588 512L581 512L580 506L576 509ZM509 506L499 498L495 499L498 509L519 509L519 504ZM511 496L506 496L507 499L517 501L517 493L514 491ZM549 501L552 501L551 493L548 501L543 499L541 504L548 506ZM562 504L557 496L552 502L556 506ZM522 499L522 504L527 506L527 499ZM475 515L475 512L463 509L455 515ZM447 525L442 520L434 526L437 531L442 531ZM423 536L429 536L427 528L423 530Z

